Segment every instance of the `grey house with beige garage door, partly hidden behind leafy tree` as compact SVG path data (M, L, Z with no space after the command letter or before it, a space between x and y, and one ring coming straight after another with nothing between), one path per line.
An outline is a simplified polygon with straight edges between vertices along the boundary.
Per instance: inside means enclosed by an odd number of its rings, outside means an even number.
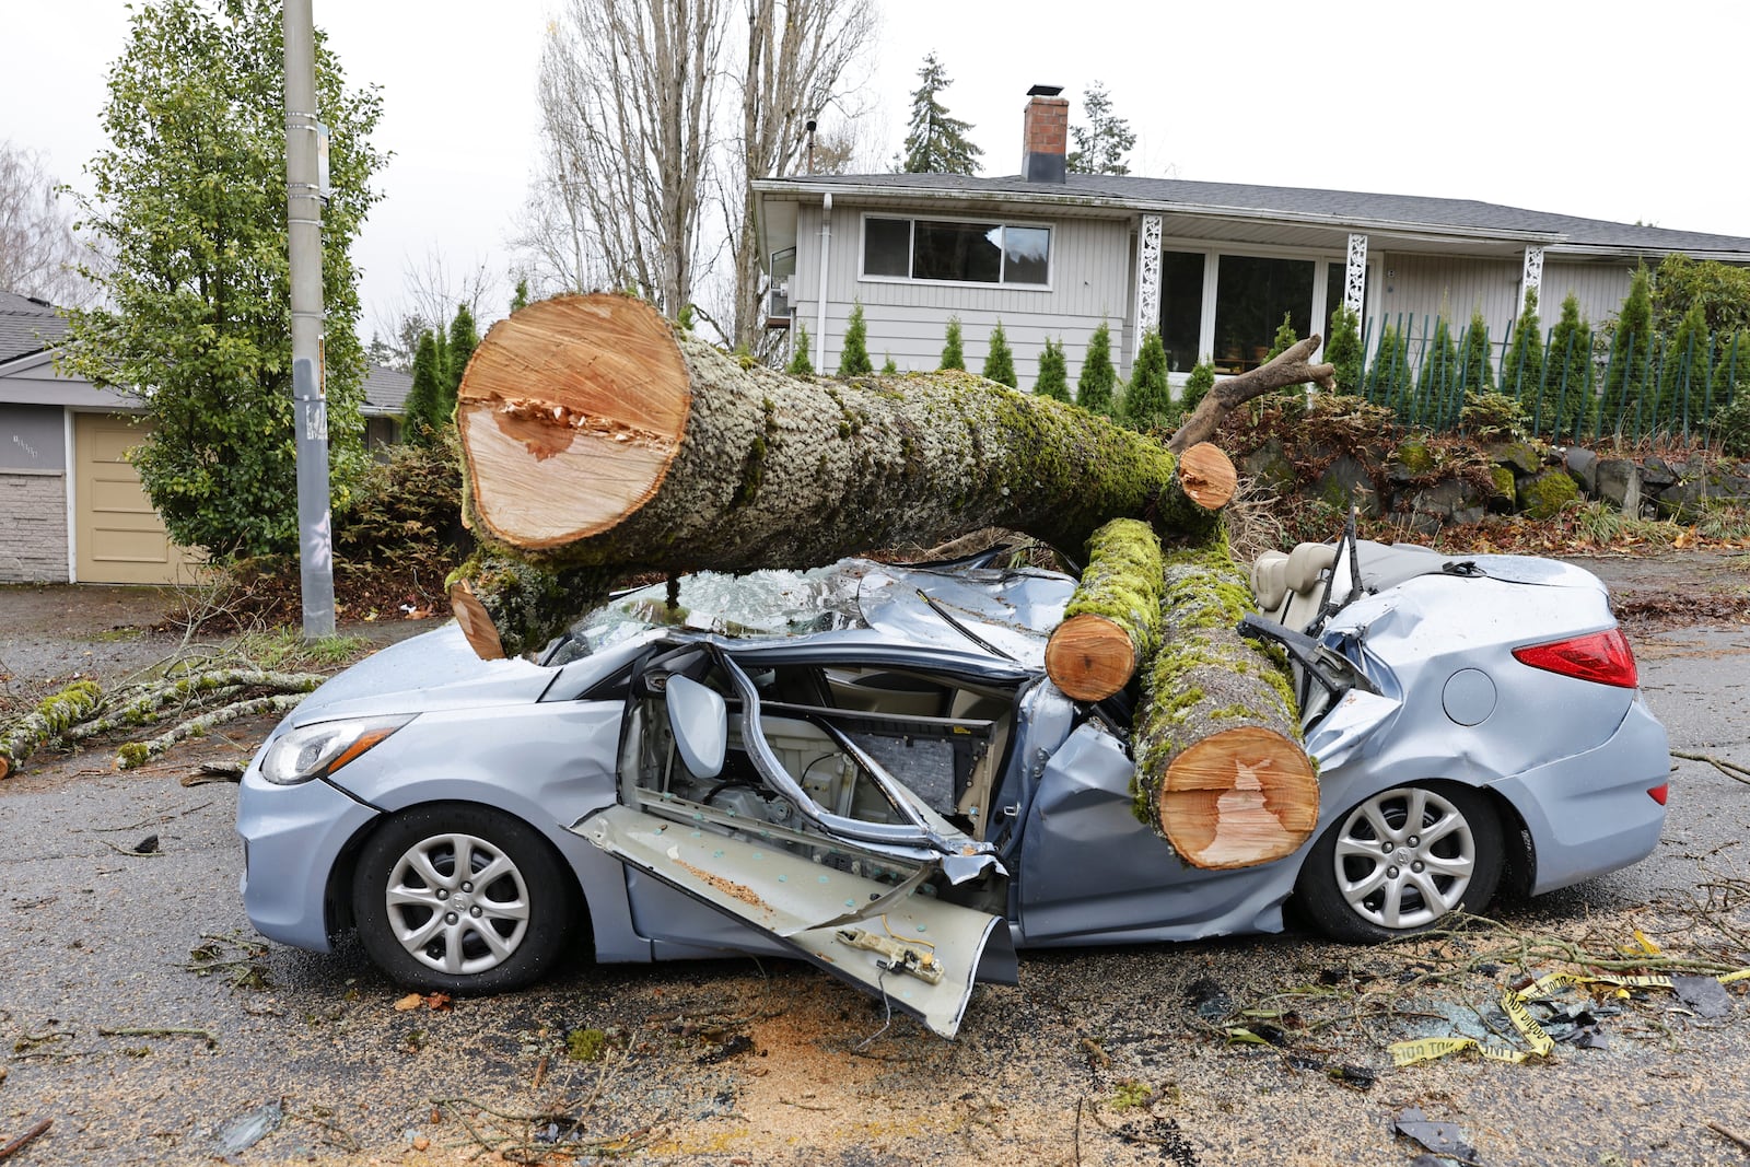
M0 583L187 583L200 556L164 535L126 457L140 402L58 373L65 334L52 304L0 292ZM411 381L369 371L368 443L399 437Z

